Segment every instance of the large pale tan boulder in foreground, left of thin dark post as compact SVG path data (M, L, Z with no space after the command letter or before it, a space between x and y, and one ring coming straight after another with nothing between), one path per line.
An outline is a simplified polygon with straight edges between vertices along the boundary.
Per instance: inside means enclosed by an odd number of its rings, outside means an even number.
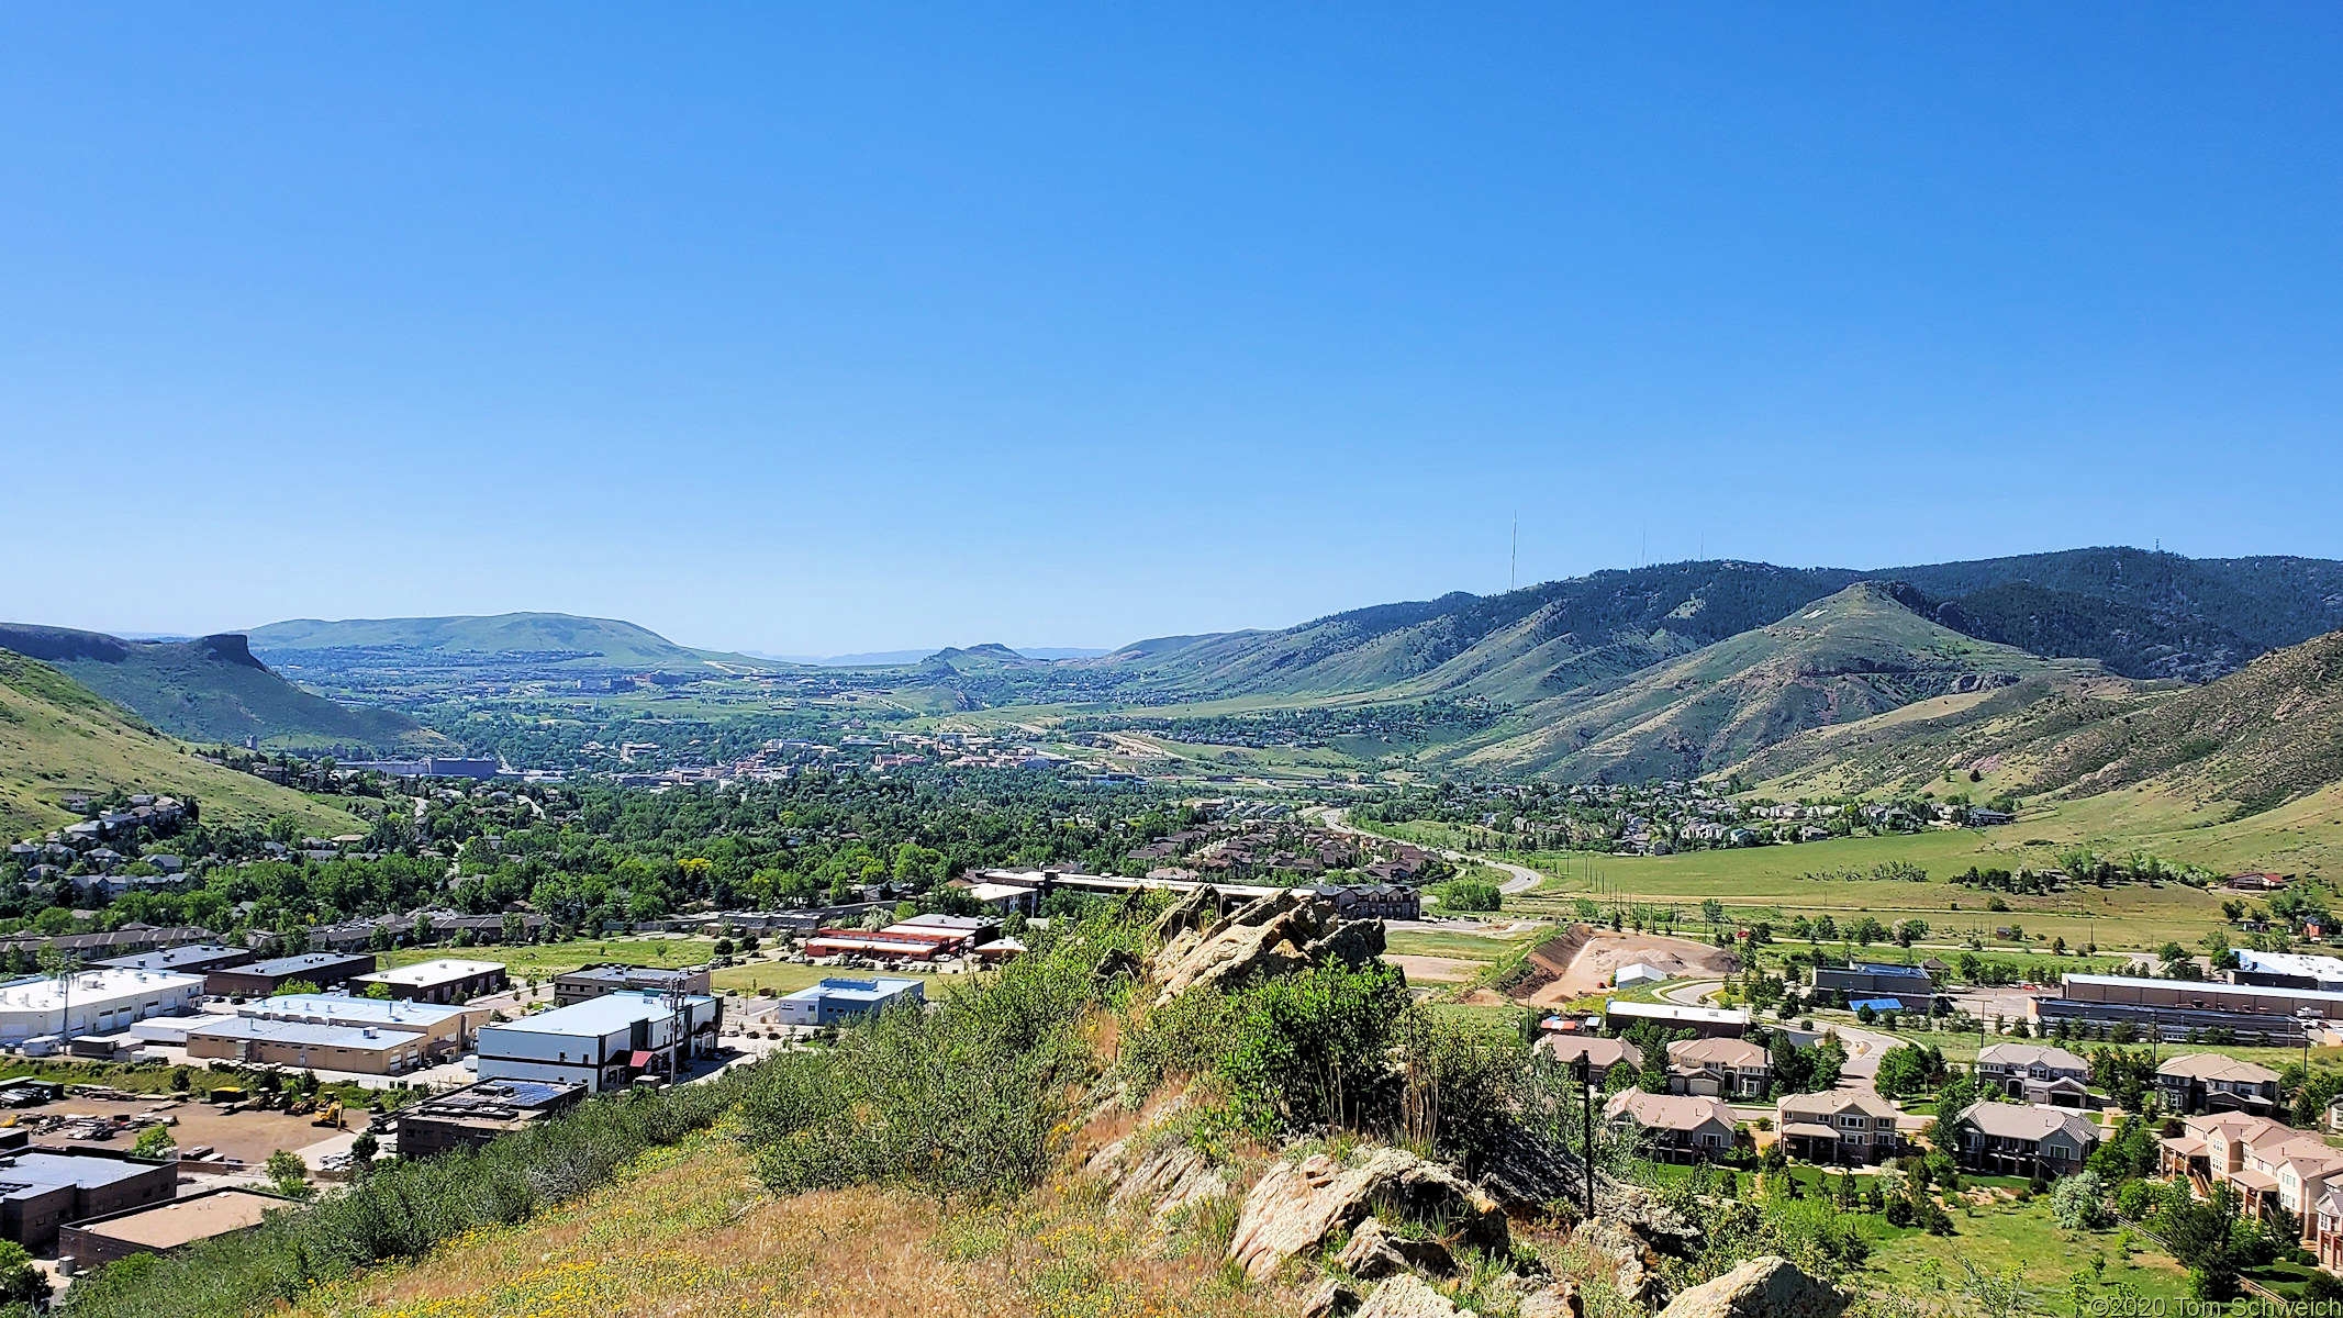
M1350 1168L1326 1154L1275 1163L1244 1196L1228 1257L1258 1281L1371 1213L1436 1220L1483 1250L1511 1241L1495 1199L1439 1163L1382 1147Z

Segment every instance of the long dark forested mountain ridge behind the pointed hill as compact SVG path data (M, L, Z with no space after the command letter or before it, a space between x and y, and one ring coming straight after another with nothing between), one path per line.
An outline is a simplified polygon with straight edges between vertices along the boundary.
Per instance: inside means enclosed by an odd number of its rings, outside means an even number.
M1190 700L1399 688L1530 702L1781 623L1856 581L1912 585L1905 604L1952 632L2142 679L2212 679L2343 627L2343 562L2329 560L2118 545L1872 571L1678 562L1352 609L1277 632L1162 637L1061 665L1057 679L1113 672L1129 693Z

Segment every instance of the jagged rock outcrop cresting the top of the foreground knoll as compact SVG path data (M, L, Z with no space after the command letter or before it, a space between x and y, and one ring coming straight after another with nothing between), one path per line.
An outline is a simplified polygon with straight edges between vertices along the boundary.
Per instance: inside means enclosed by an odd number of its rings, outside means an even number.
M1216 908L1218 892L1197 887L1155 920L1162 946L1148 976L1160 986L1157 1007L1200 983L1235 990L1314 965L1361 967L1382 955L1382 920L1345 920L1331 901L1293 890L1228 915L1214 915Z

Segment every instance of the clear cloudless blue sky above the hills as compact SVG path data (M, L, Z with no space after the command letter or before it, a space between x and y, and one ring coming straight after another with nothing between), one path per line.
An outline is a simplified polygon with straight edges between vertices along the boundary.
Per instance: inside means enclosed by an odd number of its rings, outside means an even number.
M7 9L0 613L2343 557L2343 12L1268 9Z

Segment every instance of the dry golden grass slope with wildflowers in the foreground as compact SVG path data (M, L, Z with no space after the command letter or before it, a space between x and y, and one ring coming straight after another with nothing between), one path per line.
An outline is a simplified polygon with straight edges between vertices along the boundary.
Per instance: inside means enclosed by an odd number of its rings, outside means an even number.
M1197 1231L1155 1231L1059 1182L944 1215L890 1189L771 1199L722 1133L644 1154L609 1187L412 1264L319 1288L307 1318L1254 1318Z

